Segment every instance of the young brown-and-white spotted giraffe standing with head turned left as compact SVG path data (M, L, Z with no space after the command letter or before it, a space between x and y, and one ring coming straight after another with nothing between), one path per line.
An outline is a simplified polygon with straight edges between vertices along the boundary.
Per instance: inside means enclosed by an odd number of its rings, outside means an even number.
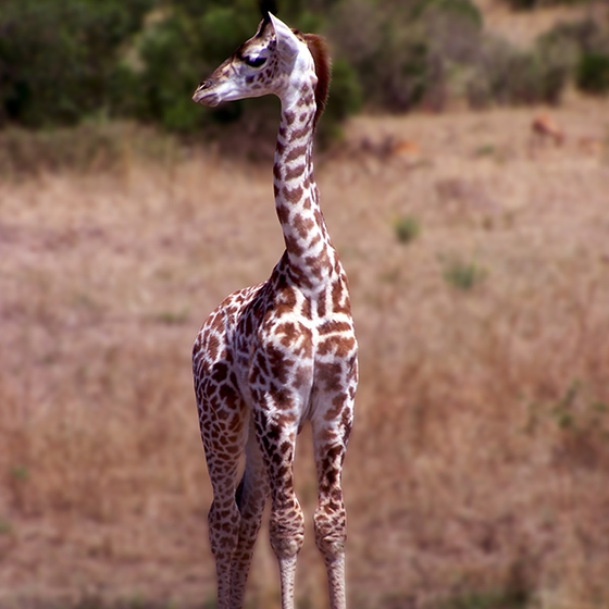
M192 349L199 425L213 488L208 523L220 609L244 606L269 496L282 609L294 609L304 520L293 462L296 437L307 421L318 478L315 544L327 571L331 608L346 606L341 469L358 360L347 275L330 239L313 177L313 133L328 86L323 38L293 30L268 13L256 35L192 97L214 107L273 94L282 107L273 188L285 251L266 282L222 301ZM245 471L237 484L244 453Z

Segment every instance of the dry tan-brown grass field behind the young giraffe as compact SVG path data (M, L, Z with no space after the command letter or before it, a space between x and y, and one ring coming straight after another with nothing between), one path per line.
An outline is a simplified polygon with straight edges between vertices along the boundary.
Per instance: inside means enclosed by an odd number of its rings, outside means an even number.
M609 104L360 117L318 159L361 346L353 609L609 607ZM0 183L0 607L213 607L190 348L283 241L266 165ZM298 607L324 607L312 540ZM249 607L277 606L261 533Z

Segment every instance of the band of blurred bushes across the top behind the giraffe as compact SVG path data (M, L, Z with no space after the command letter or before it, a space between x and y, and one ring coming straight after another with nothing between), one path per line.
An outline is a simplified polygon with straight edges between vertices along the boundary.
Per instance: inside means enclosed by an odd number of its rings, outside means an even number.
M484 32L473 0L2 0L0 127L99 115L182 133L241 116L262 124L276 108L266 99L207 112L191 102L252 35L259 3L331 41L322 136L362 103L399 112L439 110L455 95L473 105L557 102L568 78L591 92L609 86L609 34L598 24L559 25L523 51Z

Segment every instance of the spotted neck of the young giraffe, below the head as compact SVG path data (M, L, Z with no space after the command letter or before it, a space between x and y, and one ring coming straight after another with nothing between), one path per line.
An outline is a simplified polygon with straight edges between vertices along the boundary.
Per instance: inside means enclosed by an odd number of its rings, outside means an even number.
M289 274L304 290L319 290L334 273L335 253L313 176L314 80L283 100L275 150L275 208L284 233Z

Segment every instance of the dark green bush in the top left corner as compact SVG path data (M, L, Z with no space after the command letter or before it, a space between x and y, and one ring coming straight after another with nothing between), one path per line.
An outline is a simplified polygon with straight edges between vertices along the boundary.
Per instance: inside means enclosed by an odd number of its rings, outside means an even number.
M3 0L0 126L74 124L108 107L122 45L153 0Z

